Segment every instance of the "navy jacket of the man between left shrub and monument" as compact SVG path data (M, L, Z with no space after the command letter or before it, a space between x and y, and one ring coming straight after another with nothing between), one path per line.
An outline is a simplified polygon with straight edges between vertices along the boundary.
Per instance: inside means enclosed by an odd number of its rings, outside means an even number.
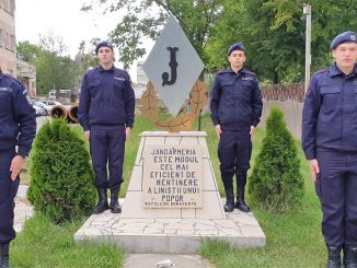
M133 128L135 94L129 74L114 66L88 70L81 86L78 117L84 131L91 125L125 125Z

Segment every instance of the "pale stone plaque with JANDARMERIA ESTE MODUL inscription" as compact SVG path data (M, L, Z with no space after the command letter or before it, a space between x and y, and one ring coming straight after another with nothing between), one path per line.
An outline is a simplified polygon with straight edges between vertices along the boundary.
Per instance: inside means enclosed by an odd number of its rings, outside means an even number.
M203 208L200 145L146 145L143 208Z

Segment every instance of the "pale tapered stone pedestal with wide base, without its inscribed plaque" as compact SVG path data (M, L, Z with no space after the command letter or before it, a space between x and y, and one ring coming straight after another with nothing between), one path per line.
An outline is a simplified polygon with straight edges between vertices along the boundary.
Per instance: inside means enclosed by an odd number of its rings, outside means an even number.
M203 163L201 208L142 208L146 145L199 145ZM146 178L147 179L147 178ZM76 241L111 241L130 253L195 254L205 238L239 247L264 246L265 235L254 214L226 213L211 166L206 132L143 132L122 214L91 215L74 234Z

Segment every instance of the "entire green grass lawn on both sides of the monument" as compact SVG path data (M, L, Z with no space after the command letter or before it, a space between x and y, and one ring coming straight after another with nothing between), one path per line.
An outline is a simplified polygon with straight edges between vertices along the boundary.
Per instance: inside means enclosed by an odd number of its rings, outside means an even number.
M79 127L76 131L82 135ZM137 117L131 140L126 143L124 165L124 184L120 197L125 196L129 184L136 153L142 131L154 130L151 123ZM197 124L195 129L197 129ZM219 175L217 159L216 132L209 116L201 119L201 130L207 132L207 144L215 168L219 190L223 195L223 186ZM263 130L256 130L253 145L252 166L257 155ZM206 241L200 254L216 267L322 267L325 263L325 246L321 235L321 210L310 173L298 143L301 172L306 180L306 195L302 206L288 214L275 214L253 207L264 233L267 245L257 249L238 249L226 243ZM26 167L31 166L31 156ZM30 178L26 179L27 182ZM249 197L247 197L249 198ZM24 231L14 241L11 248L13 267L120 267L125 254L113 245L73 244L73 233L81 222L53 225L42 215L35 215L25 224Z

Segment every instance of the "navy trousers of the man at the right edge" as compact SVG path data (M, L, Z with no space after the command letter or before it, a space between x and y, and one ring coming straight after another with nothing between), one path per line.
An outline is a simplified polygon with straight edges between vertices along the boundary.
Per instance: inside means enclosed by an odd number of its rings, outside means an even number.
M315 182L329 246L357 245L357 152L318 150Z

